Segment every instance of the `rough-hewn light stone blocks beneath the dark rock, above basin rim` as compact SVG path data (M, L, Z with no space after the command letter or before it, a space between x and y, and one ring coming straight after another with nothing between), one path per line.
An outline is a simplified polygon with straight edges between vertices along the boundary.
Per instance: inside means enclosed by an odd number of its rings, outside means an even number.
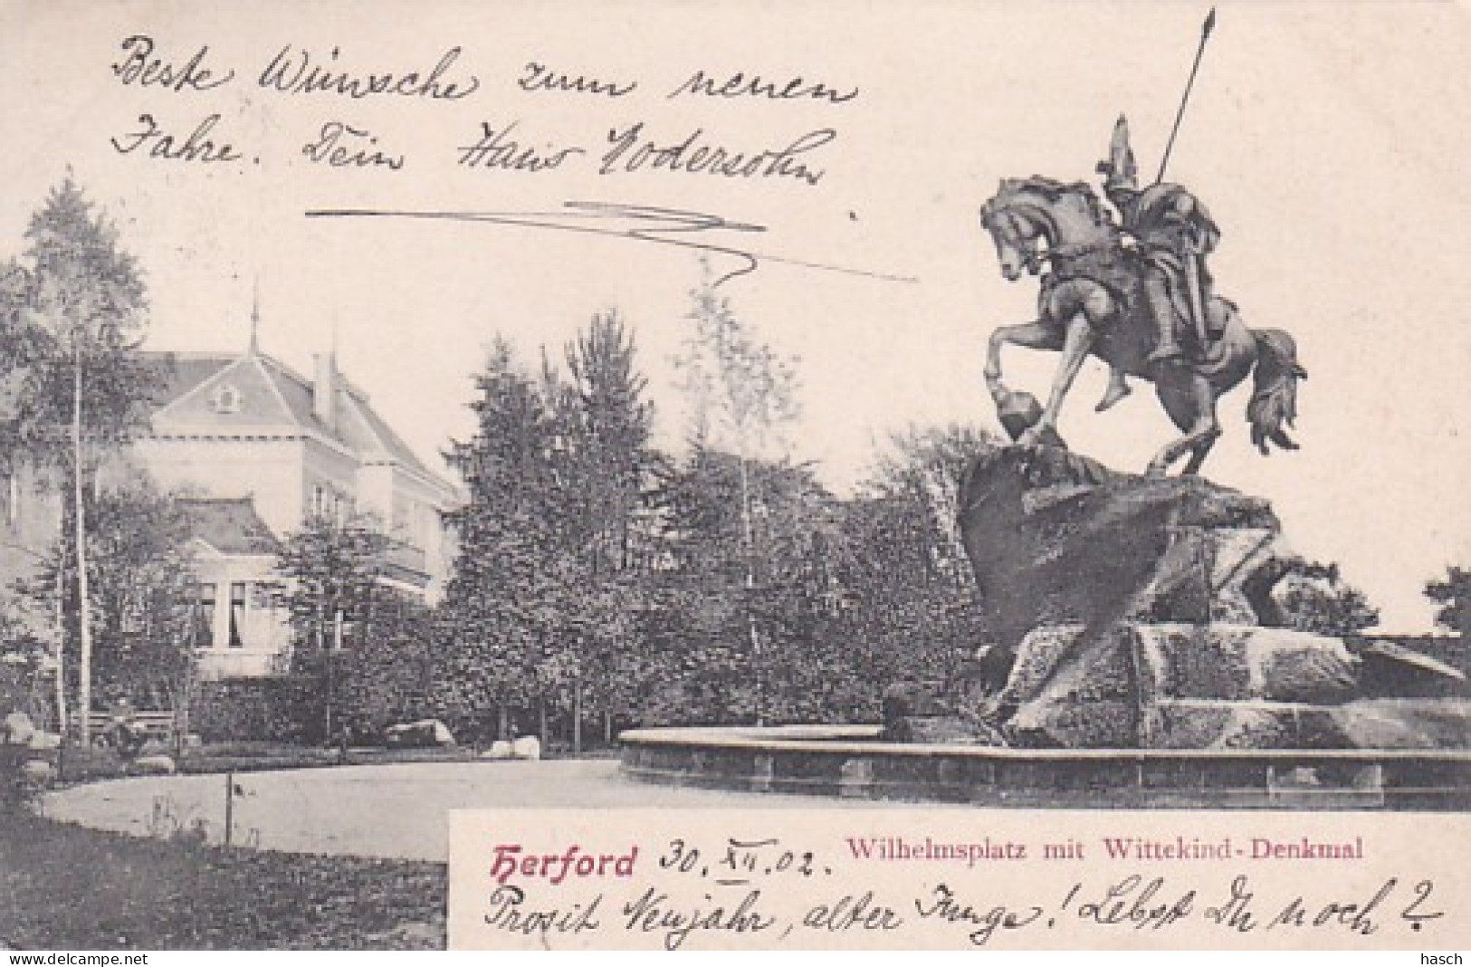
M1412 698L1377 698L1393 662ZM1471 701L1433 662L1259 626L1121 623L1028 634L1002 733L1022 748L1456 749ZM1437 693L1439 692L1439 693Z

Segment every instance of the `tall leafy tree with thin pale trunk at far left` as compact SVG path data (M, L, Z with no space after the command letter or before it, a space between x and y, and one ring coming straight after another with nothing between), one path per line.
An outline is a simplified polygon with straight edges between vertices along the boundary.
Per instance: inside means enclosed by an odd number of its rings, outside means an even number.
M156 374L137 355L143 280L116 230L68 177L31 218L19 261L0 266L0 372L16 390L0 453L71 478L71 530L82 609L78 706L91 706L93 621L84 492L99 456L141 422ZM87 730L81 732L88 742Z

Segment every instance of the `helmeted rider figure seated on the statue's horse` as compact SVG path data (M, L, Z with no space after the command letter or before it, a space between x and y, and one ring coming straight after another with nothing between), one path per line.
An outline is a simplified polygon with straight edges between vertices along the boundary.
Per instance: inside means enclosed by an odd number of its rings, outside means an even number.
M1206 256L1221 238L1219 228L1189 190L1177 184L1139 187L1128 122L1122 116L1114 125L1109 157L1099 162L1097 171L1105 175L1103 191L1118 209L1125 237L1133 240L1140 256L1141 309L1158 334L1149 362L1175 365L1184 359L1177 319L1192 334L1196 355L1205 356L1221 328L1221 319L1212 318L1209 311L1211 274L1206 269ZM1124 372L1115 368L1099 409L1108 409L1127 393Z

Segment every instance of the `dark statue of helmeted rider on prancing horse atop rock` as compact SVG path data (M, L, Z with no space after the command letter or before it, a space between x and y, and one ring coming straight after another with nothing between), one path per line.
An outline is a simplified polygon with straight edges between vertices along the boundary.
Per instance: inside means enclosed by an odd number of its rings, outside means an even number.
M1296 417L1296 343L1281 330L1249 330L1234 303L1215 293L1206 259L1221 233L1205 205L1178 184L1139 187L1128 122L1119 118L1106 160L1097 166L1108 210L1084 183L1008 178L981 208L1002 275L1040 275L1037 319L991 333L986 384L1002 425L1022 444L1064 446L1058 414L1087 356L1108 364L1109 386L1097 409L1130 393L1128 378L1155 384L1181 436L1149 462L1165 474L1189 456L1196 474L1221 436L1217 400L1255 374L1247 403L1252 442L1297 449L1287 436ZM1161 169L1162 174L1162 169ZM1058 352L1047 403L1002 383L1002 347Z

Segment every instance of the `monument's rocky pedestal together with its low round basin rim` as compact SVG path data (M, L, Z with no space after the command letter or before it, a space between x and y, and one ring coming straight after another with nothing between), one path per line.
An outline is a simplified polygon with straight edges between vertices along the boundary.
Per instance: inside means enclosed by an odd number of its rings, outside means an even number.
M1019 412L1019 411L1018 411ZM1028 807L1471 808L1465 676L1284 626L1271 505L997 447L959 490L993 639L974 684L902 681L883 726L624 733L635 779Z

